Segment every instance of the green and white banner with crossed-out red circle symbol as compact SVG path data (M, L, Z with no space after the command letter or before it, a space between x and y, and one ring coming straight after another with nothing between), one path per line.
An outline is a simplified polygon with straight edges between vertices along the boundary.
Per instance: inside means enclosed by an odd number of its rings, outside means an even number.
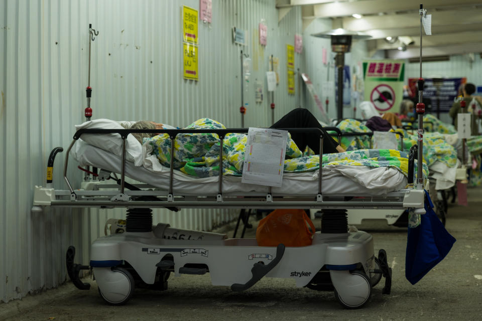
M365 100L370 100L380 113L399 112L404 77L403 60L365 60Z

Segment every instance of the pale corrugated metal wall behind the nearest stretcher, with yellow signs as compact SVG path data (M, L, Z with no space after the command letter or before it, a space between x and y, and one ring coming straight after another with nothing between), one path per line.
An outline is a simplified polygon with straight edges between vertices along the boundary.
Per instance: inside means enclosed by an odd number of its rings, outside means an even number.
M240 126L240 47L231 28L248 31L244 51L252 58L245 101L246 126L271 124L270 101L255 103L256 79L263 80L268 56L280 57L276 117L294 108L287 94L286 44L302 33L301 9L278 24L272 0L213 0L213 21L199 25L199 82L182 79L181 5L185 1L3 0L0 2L0 301L55 287L66 280L63 257L70 244L87 262L91 240L107 217L122 211L46 210L31 213L33 186L45 185L46 161L55 146L67 147L74 125L83 121L87 86L88 24L100 34L92 43L93 118L149 119L186 126L211 117ZM258 24L268 25L268 45L258 45ZM303 66L296 54L295 68ZM61 180L57 156L54 185ZM79 186L81 174L69 169ZM236 213L183 210L156 212L155 222L210 229Z

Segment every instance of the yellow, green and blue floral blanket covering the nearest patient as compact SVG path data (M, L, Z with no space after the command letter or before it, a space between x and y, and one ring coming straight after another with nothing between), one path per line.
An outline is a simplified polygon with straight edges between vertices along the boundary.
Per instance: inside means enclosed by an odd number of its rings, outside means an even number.
M202 118L188 129L225 129L212 119ZM155 154L159 162L170 167L171 139L168 134L144 138L150 154ZM222 169L223 175L241 176L247 143L246 134L229 133L223 139ZM219 136L217 134L178 134L174 140L175 169L194 177L219 175ZM408 175L408 155L399 150L362 149L343 153L324 154L322 166L348 165L367 166L370 168L393 167ZM302 152L289 136L284 164L285 173L312 172L319 168L319 155L302 156ZM416 173L416 171L415 171ZM428 170L424 164L424 173Z

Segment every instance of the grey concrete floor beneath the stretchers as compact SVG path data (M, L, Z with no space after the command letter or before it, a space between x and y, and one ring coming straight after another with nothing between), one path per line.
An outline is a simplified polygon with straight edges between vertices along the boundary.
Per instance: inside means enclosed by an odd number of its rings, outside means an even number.
M416 285L404 274L407 229L374 221L358 226L373 234L376 253L386 249L393 268L392 294L382 294L382 279L362 309L343 309L332 292L296 288L291 280L265 278L233 293L212 286L206 274L171 277L164 292L136 290L124 306L106 305L95 281L88 291L69 282L0 304L0 320L481 320L482 188L468 192L470 206L450 205L447 216L446 228L457 242ZM249 230L248 237L254 233Z

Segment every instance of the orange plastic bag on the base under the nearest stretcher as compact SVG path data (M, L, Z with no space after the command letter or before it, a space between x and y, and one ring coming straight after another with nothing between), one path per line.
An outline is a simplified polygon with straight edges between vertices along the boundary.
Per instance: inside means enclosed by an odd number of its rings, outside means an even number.
M306 223L311 227L308 229ZM274 210L260 221L256 230L259 246L311 245L315 226L304 210Z

